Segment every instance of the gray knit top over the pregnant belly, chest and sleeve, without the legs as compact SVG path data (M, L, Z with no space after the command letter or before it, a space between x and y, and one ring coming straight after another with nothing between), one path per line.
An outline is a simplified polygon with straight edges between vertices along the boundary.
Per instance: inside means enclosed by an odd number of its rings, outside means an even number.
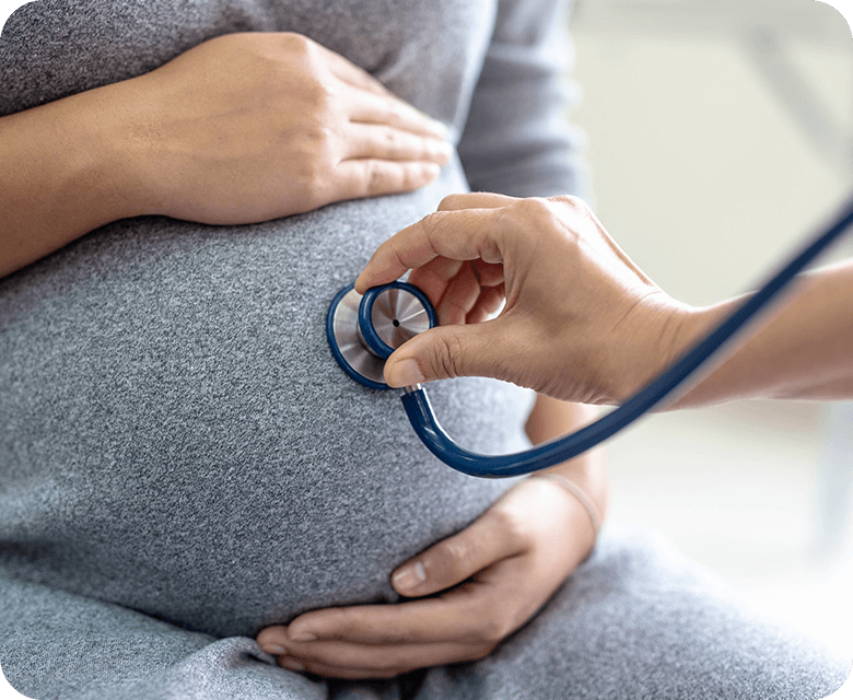
M575 188L556 3L36 0L0 35L0 114L151 71L236 31L311 36L444 120L458 160L411 195L257 225L144 217L0 280L2 570L221 635L393 599L389 572L506 488L460 476L366 389L324 319L376 246L449 192ZM479 451L530 397L432 392Z

